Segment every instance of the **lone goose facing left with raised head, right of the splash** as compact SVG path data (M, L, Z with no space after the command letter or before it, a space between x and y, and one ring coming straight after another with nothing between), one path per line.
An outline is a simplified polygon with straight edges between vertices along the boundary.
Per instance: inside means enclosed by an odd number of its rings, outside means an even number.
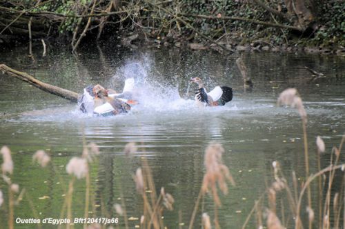
M190 79L193 83L197 83L199 88L195 90L195 103L198 107L204 106L224 106L225 103L233 99L233 89L227 86L217 86L210 92L206 92L204 82L195 77Z

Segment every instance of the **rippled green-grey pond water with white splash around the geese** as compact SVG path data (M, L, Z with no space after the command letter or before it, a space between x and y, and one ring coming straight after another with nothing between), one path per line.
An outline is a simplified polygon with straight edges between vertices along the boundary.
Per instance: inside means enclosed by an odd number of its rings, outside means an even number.
M205 172L205 149L210 142L218 142L236 183L229 184L228 195L221 195L219 222L222 228L240 228L255 200L273 181L273 161L279 161L288 180L293 171L299 179L305 174L301 119L295 110L277 107L280 92L295 87L304 101L312 172L317 170L317 135L326 143L328 153L322 157L322 165L327 166L331 148L339 146L344 134L345 57L245 53L242 59L254 82L253 90L245 91L235 63L238 54L124 50L93 44L76 55L68 48L52 46L46 57L41 52L39 43L33 57L26 47L4 49L0 63L79 93L97 83L121 90L126 77L134 76L141 82L143 97L128 115L92 117L79 112L74 103L0 72L0 146L12 150L12 181L26 189L23 201L14 209L15 217L22 219L59 219L70 180L65 166L81 155L85 141L97 143L101 150L90 171L95 194L90 215L119 217L113 205L123 198L128 217L134 219L129 221L130 228L139 225L135 218L141 217L143 207L132 175L144 158L157 192L164 187L175 198L174 210L164 212L164 223L168 228L187 228ZM304 66L328 78L312 81ZM219 108L196 108L194 86L188 81L191 77L204 79L209 89L232 87L233 101ZM124 146L129 142L137 143L138 151L128 157ZM36 150L46 150L54 166L39 168L32 163ZM0 189L7 197L2 180ZM85 189L84 179L76 181L73 217L83 217ZM315 195L313 202L317 203ZM206 195L204 205L204 212L212 218L213 199ZM0 225L7 224L5 209L0 208ZM199 211L195 228L201 228L200 215ZM254 226L255 218L248 228ZM16 228L36 226L17 224ZM122 217L119 228L124 228Z

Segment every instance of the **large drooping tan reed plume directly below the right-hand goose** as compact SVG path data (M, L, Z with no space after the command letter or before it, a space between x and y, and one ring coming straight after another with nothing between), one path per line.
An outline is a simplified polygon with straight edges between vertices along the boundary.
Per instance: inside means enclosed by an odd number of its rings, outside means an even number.
M230 181L233 185L233 177L231 176L228 167L226 167L221 161L221 155L224 152L223 146L219 143L210 143L206 148L204 164L206 167L206 174L204 175L204 181L202 183L202 191L208 192L208 189L212 190L213 199L217 206L220 206L220 199L217 194L217 184L223 194L228 193L228 185L226 180Z

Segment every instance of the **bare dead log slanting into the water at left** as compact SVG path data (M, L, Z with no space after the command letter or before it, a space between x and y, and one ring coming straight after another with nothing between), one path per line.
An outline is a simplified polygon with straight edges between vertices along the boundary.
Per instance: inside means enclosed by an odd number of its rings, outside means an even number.
M22 81L25 81L26 83L30 83L32 86L35 86L36 88L39 88L45 92L48 92L50 94L55 94L59 97L62 97L63 99L68 99L72 102L77 102L79 94L76 92L72 92L70 90L66 90L63 88L59 88L57 86L50 85L48 83L43 83L42 81L39 81L38 79L34 79L34 77L30 76L30 74L26 72L19 72L17 70L14 70L5 64L0 64L0 70L3 72L3 74L7 74L10 77L14 77L17 79L20 79Z

